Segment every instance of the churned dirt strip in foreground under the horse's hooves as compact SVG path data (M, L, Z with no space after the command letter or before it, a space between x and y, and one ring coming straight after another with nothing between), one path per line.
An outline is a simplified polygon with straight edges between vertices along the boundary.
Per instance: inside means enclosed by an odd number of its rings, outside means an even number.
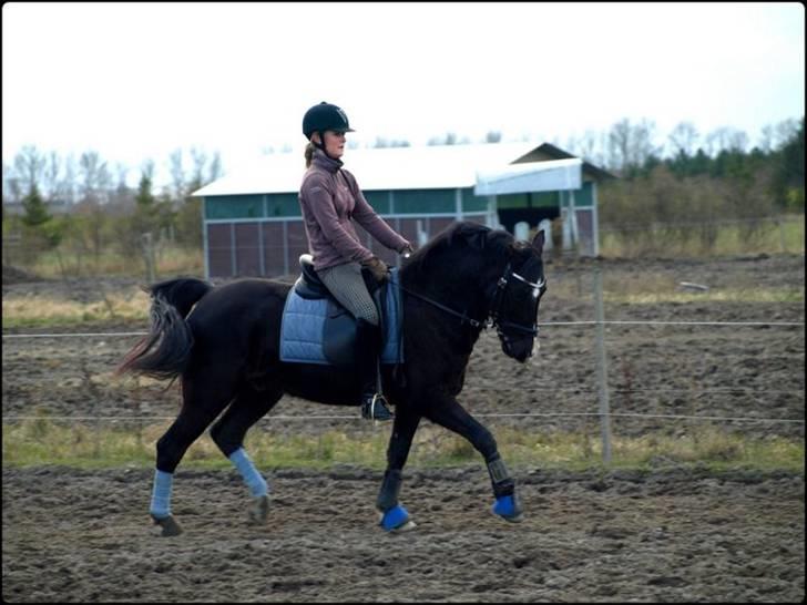
M177 471L185 533L156 537L144 470L3 470L7 602L804 602L804 478L671 470L517 475L527 519L489 512L481 468L410 471L418 523L386 535L380 473L268 474L246 523L235 472Z

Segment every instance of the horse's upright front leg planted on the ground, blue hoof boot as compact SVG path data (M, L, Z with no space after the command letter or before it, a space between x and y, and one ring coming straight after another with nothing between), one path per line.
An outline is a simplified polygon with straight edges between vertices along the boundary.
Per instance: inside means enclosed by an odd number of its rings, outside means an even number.
M409 457L419 422L420 416L411 410L402 407L397 410L387 448L387 471L384 473L381 490L376 500L376 507L381 513L380 525L387 532L401 532L415 527L415 523L409 520L409 513L398 502L398 494L401 471Z

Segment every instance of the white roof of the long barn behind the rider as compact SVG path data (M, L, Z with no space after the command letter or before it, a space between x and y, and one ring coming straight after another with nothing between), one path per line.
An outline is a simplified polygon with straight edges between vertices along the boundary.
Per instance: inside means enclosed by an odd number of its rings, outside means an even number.
M343 162L365 191L464 188L477 184L480 172L496 171L514 163L560 158L558 152L563 154L563 158L574 157L548 143L522 142L348 148ZM265 155L193 195L297 193L304 172L302 151ZM583 172L594 178L609 174L588 162L583 163Z

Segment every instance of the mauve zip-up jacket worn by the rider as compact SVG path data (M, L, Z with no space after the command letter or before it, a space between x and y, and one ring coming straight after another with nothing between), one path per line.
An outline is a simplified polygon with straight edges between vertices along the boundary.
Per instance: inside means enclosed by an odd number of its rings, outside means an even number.
M317 271L374 256L361 245L351 219L391 250L401 252L409 245L376 214L356 177L341 166L341 161L315 150L299 189L308 248Z

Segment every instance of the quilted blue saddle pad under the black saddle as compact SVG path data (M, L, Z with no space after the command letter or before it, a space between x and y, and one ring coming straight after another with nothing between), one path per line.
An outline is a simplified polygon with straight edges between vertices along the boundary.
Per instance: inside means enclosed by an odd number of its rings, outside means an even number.
M404 310L397 268L391 269L386 288L387 298L381 320L384 326L381 363L402 363ZM330 297L310 300L300 297L292 289L286 298L280 324L280 361L330 366L331 361L325 355L323 336L328 314L333 314L337 306L339 309L344 309ZM350 345L353 345L353 340ZM349 357L353 355L349 353Z

